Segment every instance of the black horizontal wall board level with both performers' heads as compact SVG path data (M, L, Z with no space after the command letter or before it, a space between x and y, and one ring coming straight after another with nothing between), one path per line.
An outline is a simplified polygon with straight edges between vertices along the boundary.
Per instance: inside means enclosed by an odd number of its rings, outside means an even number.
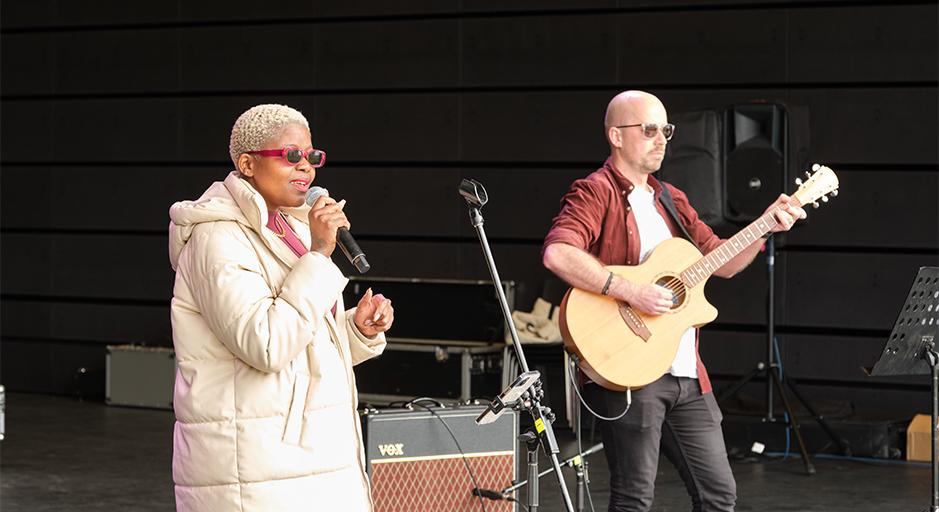
M817 161L934 165L939 134L930 116L917 114L937 110L935 92L935 87L800 89L789 99L812 112L811 155ZM314 140L333 151L334 162L453 161L458 154L466 161L583 162L602 161L602 119L612 94L280 95L264 101L286 102L304 111ZM669 102L679 96L683 101ZM681 111L760 96L663 91L661 97L673 111ZM224 158L233 119L253 102L232 97L7 103L10 125L25 127L3 132L8 161L48 161L51 152L62 162L160 162ZM851 123L852 129L842 123ZM904 129L896 129L901 125ZM38 142L50 139L59 142L56 147Z

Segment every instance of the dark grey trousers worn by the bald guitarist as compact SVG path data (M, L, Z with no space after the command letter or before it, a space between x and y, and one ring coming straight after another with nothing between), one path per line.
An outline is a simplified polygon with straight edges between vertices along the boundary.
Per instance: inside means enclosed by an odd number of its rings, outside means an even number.
M618 416L626 394L584 386L587 403L604 416ZM737 484L730 471L720 408L713 393L701 394L698 379L664 375L632 393L632 406L615 422L598 420L610 466L610 511L648 511L655 492L659 448L678 469L691 510L732 511Z

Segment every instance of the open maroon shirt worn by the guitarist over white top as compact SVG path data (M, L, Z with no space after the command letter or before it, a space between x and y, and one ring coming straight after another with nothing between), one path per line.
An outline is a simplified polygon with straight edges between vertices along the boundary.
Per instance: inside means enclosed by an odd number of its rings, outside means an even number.
M681 230L662 206L660 196L663 186L671 192L682 225L703 254L724 242L698 218L698 213L684 192L651 175L649 186L655 192L655 207L665 219L672 235L681 236ZM603 167L575 181L561 198L561 213L554 218L545 237L544 247L567 244L596 256L604 265L638 265L639 229L627 197L633 188L633 183L619 174L610 159L607 159ZM697 359L701 391L709 393L711 380L701 362L700 353Z

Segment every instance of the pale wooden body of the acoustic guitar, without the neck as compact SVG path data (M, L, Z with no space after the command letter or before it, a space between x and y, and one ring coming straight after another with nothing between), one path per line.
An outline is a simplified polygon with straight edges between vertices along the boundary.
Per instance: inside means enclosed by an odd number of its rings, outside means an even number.
M641 265L607 267L630 282L659 283L673 289L676 304L664 315L646 315L611 297L578 288L567 292L561 303L561 335L587 376L607 389L623 391L650 384L668 371L682 334L717 318L717 309L704 297L704 281L691 288L681 283L681 270L701 257L690 242L671 238ZM638 318L638 326L627 320L630 313Z

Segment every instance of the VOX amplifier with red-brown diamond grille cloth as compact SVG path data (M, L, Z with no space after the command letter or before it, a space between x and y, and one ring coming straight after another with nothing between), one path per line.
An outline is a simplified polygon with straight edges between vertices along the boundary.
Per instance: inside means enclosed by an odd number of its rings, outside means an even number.
M431 407L433 412L415 408L364 414L375 512L476 510L475 501L480 498L472 491L477 485L493 490L512 485L518 435L515 412L506 411L494 423L476 425L483 410L483 406L457 406ZM486 510L512 512L515 508L508 501L487 501Z

